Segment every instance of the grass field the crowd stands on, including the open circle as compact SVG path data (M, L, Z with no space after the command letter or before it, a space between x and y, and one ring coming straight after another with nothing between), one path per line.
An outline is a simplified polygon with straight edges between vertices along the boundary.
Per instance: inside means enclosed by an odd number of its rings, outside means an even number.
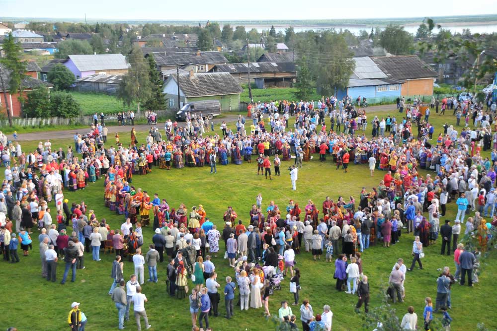
M387 113L377 113L379 116L385 116ZM395 106L391 115L395 114ZM368 120L372 119L374 114L368 113ZM445 121L455 123L451 115L437 117L432 115L433 122L437 130L435 135L441 129ZM368 130L369 130L368 126ZM366 132L368 135L370 132ZM138 140L144 140L145 132L140 132ZM129 142L128 135L121 135L121 141ZM23 149L29 150L36 147L36 141L23 143ZM54 139L52 146L66 146L72 141ZM325 163L318 161L317 155L310 162L305 162L304 167L299 169L299 179L297 181L297 191L291 190L290 178L287 167L290 161L283 162L281 165L281 177L275 177L272 181L265 180L264 176L256 176L256 164L244 163L243 165L233 165L217 167L218 173L211 175L209 168L185 168L172 169L171 171L154 168L153 172L147 176L134 176L133 185L135 187L147 190L151 196L159 193L161 199L167 199L171 207L177 208L180 203L185 203L188 208L192 205L203 204L207 216L213 220L218 227L222 228L222 215L227 206L233 206L238 212L239 218L248 224L248 212L258 193L262 194L263 206L267 206L270 200L284 210L288 200L294 199L301 207L305 206L308 199L313 199L321 209L321 202L326 196L337 199L338 196L348 197L353 195L357 200L362 186L371 189L378 185L384 173L375 172L374 178L369 176L367 165L350 165L349 173L344 174L341 170L336 171L331 157ZM425 173L421 171L421 173ZM80 202L84 200L89 209L95 210L98 219L105 217L112 228L117 229L124 222L124 216L116 215L103 206L103 180L90 184L84 191L66 192L66 198L70 202ZM52 204L52 203L51 203ZM55 208L53 208L55 209ZM321 216L321 215L320 215ZM447 208L447 219L454 219L455 205L451 203ZM443 219L441 220L443 222ZM464 227L464 226L463 226ZM463 229L464 231L464 229ZM151 243L153 229L144 228L144 251L148 244ZM81 302L80 308L88 318L86 330L88 331L107 331L117 329L117 312L115 305L107 295L111 285L110 278L112 255L100 255L101 262L91 261L91 254L85 255L86 268L78 270L77 281L75 283L67 282L65 285L59 283L48 283L41 278L40 260L38 255L37 233L32 235L33 248L29 257L20 257L21 263L15 265L3 264L1 275L9 279L9 294L15 299L7 300L11 308L9 314L4 314L2 326L15 326L19 330L46 330L49 328L53 331L68 330L67 314L73 301ZM391 248L380 246L370 247L363 253L363 270L364 274L369 276L371 285L371 302L370 308L381 303L380 288L388 280L392 266L398 258L402 257L409 265L411 262L411 248L413 236L402 234L400 243ZM220 244L221 251L217 259L213 262L216 265L218 281L224 286L224 278L227 275L233 276L233 270L227 266L227 262L222 259L224 255L224 244ZM434 246L425 249L426 257L422 263L424 270L414 269L414 272L408 273L406 280L406 301L397 304L399 318L407 311L407 307L414 306L418 314L418 325L422 328L422 309L424 306L423 299L430 296L433 300L436 296L436 277L439 271L447 265L454 272L453 258L440 256L440 242ZM297 256L298 267L301 269L301 286L300 301L309 298L314 308L315 314L322 312L325 304L331 306L333 312L333 330L348 331L362 330L362 316L354 313L354 306L357 297L345 293L337 293L334 289L335 280L333 279L334 265L326 263L324 257L321 261L312 261L310 254L301 254ZM58 279L62 278L64 265L60 262L58 266ZM494 261L490 261L483 267L483 273L480 276L479 284L470 288L454 285L452 290L452 310L450 314L454 319L452 330L471 331L476 330L476 325L484 322L491 329L497 328L495 319L484 312L488 311L489 305L493 305L495 299L492 299L495 291L495 285L492 283L492 274L497 272L497 266ZM134 272L133 264L125 261L124 274L126 280ZM149 299L146 304L147 315L151 330L171 330L171 323L174 330L191 330L190 314L188 310L188 301L170 299L166 294L166 263L158 267L159 283L145 283L143 293ZM147 270L145 271L147 274ZM191 284L190 284L191 285ZM191 286L190 286L191 288ZM22 293L19 295L19 293ZM490 294L490 295L489 295ZM222 296L222 295L221 295ZM289 278L282 282L282 290L275 291L275 294L269 299L269 307L272 315L277 316L281 300L292 302L293 295L289 293ZM27 303L29 307L50 307L50 310L43 309L44 314L37 314L36 318L26 319L25 310ZM294 314L299 320L299 307L291 306ZM45 313L46 312L46 313ZM266 322L263 318L263 309L240 312L240 308L235 308L235 318L228 321L224 315L224 303L221 298L219 305L220 317L211 318L210 324L213 330L223 331L258 331L273 330L274 325ZM469 312L478 312L470 314ZM439 319L441 315L435 315ZM299 325L299 330L301 326ZM126 330L136 330L136 325L132 319L131 322L125 323ZM142 324L143 326L143 324Z

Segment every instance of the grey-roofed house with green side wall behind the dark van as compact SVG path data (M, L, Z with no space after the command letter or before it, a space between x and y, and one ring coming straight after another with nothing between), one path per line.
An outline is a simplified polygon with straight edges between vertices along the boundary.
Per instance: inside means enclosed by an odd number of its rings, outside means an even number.
M178 107L178 84L179 99ZM243 88L229 72L202 72L172 74L164 84L164 94L170 108L180 108L185 103L200 100L219 100L222 111L238 110Z

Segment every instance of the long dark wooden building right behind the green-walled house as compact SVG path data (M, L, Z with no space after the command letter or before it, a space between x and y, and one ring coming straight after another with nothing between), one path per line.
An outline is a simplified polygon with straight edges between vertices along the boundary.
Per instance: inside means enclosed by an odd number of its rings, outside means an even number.
M297 69L292 62L252 62L216 65L210 72L229 72L240 84L248 84L248 68L250 81L257 88L291 87L297 78Z

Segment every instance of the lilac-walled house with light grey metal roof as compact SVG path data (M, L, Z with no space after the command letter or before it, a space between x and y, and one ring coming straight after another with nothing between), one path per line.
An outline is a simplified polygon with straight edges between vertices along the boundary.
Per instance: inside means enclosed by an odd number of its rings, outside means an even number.
M70 55L64 66L74 73L76 80L98 74L125 74L129 64L122 54Z

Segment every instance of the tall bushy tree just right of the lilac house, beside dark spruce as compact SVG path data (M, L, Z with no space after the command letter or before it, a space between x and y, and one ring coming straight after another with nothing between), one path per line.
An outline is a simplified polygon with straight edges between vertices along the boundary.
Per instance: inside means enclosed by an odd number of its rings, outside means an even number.
M130 107L136 102L138 111L140 111L140 103L146 102L152 97L150 67L143 57L142 50L137 46L132 48L128 62L131 67L128 73L123 76L116 97L123 102L123 106Z

